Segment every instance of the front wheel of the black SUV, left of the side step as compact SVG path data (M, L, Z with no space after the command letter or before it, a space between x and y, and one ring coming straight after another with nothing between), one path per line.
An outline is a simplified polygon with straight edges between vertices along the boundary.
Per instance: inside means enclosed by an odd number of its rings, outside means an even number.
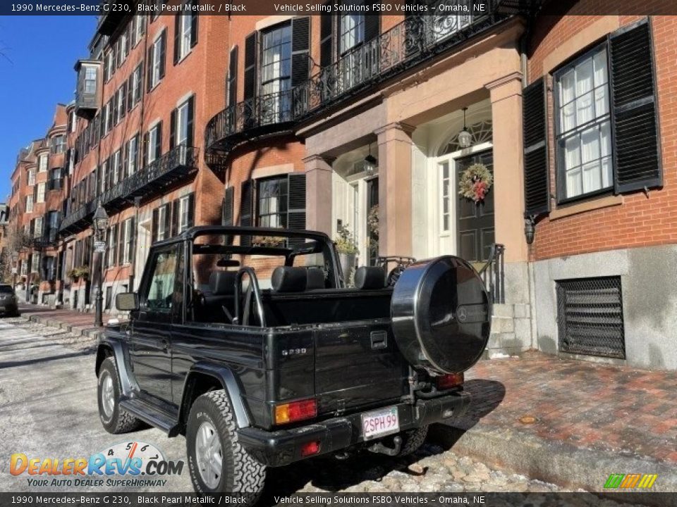
M104 359L99 368L99 419L105 430L112 434L127 433L138 429L141 421L120 406L120 380L115 359Z

